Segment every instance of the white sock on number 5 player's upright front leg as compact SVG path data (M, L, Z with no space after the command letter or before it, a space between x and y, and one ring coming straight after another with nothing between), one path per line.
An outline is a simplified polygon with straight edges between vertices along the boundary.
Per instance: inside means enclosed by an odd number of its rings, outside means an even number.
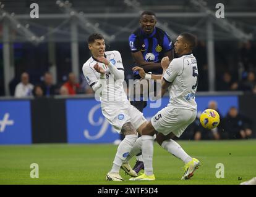
M144 162L144 172L146 175L153 174L153 151L154 137L151 135L142 135L142 157Z

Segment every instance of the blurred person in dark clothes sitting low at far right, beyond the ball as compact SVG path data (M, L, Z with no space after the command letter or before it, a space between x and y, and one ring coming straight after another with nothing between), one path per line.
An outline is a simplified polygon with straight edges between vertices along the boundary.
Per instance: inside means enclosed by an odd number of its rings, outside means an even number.
M231 107L225 118L225 132L229 139L248 139L252 135L249 121L238 113L236 107Z

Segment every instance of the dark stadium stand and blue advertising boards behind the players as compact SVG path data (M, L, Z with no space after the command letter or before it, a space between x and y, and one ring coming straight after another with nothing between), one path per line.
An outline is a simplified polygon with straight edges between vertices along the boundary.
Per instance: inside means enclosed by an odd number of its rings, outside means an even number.
M30 17L32 3L39 6L39 18ZM85 90L72 96L57 93L53 97L15 98L14 88L24 71L30 75L32 84L41 83L46 71L53 74L58 88L70 72L84 84L82 65L90 57L86 40L93 32L105 36L106 50L121 52L126 80L132 78L128 38L139 27L142 10L156 13L156 26L167 31L173 43L181 32L197 35L194 55L199 73L198 110L204 110L210 100L216 100L222 116L235 106L255 123L256 81L255 78L249 81L248 76L256 71L256 1L221 1L225 18L215 17L217 3L1 1L0 144L113 143L119 139L103 118L93 94L85 94ZM224 73L231 76L229 86ZM236 88L233 84L237 84ZM87 89L86 84L84 88ZM164 97L162 106L167 102L168 97ZM147 108L145 116L150 118L156 111L158 108ZM4 125L7 116L12 123ZM255 137L255 124L252 131ZM239 145L237 142L235 147Z

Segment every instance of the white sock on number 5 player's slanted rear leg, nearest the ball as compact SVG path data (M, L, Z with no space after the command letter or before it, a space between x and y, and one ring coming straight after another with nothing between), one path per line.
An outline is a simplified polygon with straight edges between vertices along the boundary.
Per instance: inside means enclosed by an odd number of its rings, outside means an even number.
M174 140L166 140L162 143L161 147L173 154L177 158L181 159L184 163L188 163L192 158L181 148L179 143Z

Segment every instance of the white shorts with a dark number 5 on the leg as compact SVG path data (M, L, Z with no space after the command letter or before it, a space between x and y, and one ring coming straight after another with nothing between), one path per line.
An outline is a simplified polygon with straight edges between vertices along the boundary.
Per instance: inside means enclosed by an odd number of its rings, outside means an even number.
M163 135L168 135L172 132L177 137L180 137L187 126L193 123L196 116L196 110L165 107L151 118L151 124L156 131Z

